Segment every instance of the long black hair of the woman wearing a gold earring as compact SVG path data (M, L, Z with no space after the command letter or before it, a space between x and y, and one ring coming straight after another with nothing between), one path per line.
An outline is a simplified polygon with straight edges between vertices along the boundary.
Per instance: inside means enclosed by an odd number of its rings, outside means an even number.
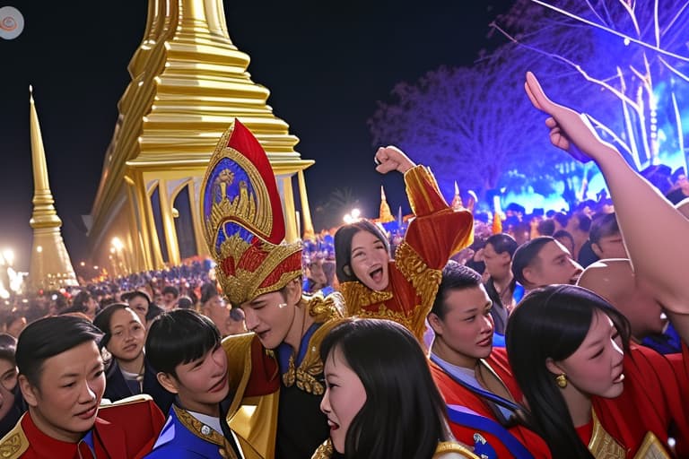
M553 457L593 458L581 442L555 376L546 360L567 359L579 349L601 311L620 333L629 351L627 319L592 291L574 285L550 285L530 292L510 315L505 331L512 373L528 403L530 425L545 439Z

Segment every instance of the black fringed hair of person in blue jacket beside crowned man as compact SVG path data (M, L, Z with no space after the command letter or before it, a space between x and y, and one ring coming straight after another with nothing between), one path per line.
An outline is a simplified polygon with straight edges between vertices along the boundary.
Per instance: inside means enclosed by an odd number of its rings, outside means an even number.
M178 365L201 359L220 345L213 321L191 309L174 309L156 318L146 337L146 359L156 371L177 377Z

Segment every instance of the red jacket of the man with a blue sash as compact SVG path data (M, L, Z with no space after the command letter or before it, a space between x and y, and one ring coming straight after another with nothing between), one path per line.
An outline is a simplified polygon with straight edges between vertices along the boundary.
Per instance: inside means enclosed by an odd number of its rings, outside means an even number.
M471 392L463 385L459 385L435 363L430 362L430 365L432 377L435 380L435 384L438 385L440 394L443 395L446 403L449 405L465 406L469 410L475 411L481 416L497 422L497 419L493 415L493 411L491 411L482 397ZM490 357L482 361L481 365L486 365L488 368L493 369L494 374L501 379L502 383L512 395L512 398L518 403L521 401L521 393L510 373L510 366L507 362L507 354L504 349L493 349ZM468 428L453 422L450 422L449 427L452 429L454 436L467 445L473 445L475 443L475 434L479 434L493 447L499 458L512 457L508 447L505 446L498 437L488 432L477 431L476 429ZM549 459L552 457L550 455L550 449L545 444L545 440L538 437L536 433L531 430L523 426L514 426L510 427L508 431L513 437L519 440L519 443L528 449L534 458Z

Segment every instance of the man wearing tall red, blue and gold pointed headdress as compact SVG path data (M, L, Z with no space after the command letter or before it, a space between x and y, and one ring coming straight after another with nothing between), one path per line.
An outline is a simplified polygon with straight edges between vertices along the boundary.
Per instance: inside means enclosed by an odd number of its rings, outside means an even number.
M250 332L222 342L232 401L224 416L253 451L247 459L310 458L328 437L319 345L342 316L339 294L302 295L301 244L288 244L275 176L239 121L205 174L201 214L217 279Z

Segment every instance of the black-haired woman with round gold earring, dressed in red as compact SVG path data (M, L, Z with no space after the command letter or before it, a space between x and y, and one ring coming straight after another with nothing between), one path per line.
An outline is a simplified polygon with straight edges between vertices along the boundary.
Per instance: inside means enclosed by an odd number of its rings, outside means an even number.
M631 344L605 299L573 285L533 290L505 335L528 422L553 457L686 457L685 376Z

